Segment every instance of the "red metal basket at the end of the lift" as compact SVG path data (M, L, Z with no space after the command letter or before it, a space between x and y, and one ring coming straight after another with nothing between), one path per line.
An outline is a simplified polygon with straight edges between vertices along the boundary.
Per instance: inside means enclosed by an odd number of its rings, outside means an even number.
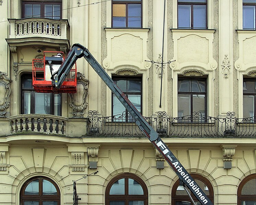
M77 65L74 64L63 81L60 89L51 84L51 75L58 71L63 62L63 52L45 51L44 59L33 59L33 88L41 93L76 93L77 92Z

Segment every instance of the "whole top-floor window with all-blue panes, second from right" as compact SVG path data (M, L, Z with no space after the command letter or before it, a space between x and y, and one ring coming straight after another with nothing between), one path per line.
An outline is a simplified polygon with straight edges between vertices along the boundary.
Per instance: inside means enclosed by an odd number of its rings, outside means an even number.
M207 29L207 0L178 0L178 28Z

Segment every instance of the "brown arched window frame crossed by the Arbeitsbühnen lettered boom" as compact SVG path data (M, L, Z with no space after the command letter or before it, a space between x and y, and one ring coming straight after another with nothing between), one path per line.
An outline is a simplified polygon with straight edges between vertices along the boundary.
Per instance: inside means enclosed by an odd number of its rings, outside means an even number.
M211 200L211 202L214 204L214 192L213 192L213 187L210 183L210 181L208 179L206 179L205 177L201 176L201 175L198 175L198 174L190 174L191 177L195 180L200 180L202 181L203 183L205 183L208 187L208 190L209 190L209 195L208 195L208 198L209 200ZM176 190L178 188L178 186L180 185L180 180L178 179L174 184L173 184L173 187L172 187L172 204L175 205L176 202L181 202L181 201L189 201L191 202L190 198L188 195L176 195ZM202 189L202 188L201 188ZM197 198L191 194L192 198L194 201L197 201ZM191 203L192 204L192 203Z

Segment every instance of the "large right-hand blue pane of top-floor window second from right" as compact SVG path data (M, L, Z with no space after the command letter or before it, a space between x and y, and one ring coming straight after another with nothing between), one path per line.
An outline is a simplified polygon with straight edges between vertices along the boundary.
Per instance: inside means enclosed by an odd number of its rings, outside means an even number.
M193 5L193 27L206 28L206 5Z

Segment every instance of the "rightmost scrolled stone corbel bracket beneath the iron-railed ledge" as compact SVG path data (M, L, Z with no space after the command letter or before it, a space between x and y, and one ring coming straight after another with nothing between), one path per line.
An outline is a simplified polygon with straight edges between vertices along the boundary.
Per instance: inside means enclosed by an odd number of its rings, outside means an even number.
M223 163L224 163L224 169L231 169L232 167L232 160L233 156L235 155L235 148L237 145L234 144L222 144L221 148L223 151Z

